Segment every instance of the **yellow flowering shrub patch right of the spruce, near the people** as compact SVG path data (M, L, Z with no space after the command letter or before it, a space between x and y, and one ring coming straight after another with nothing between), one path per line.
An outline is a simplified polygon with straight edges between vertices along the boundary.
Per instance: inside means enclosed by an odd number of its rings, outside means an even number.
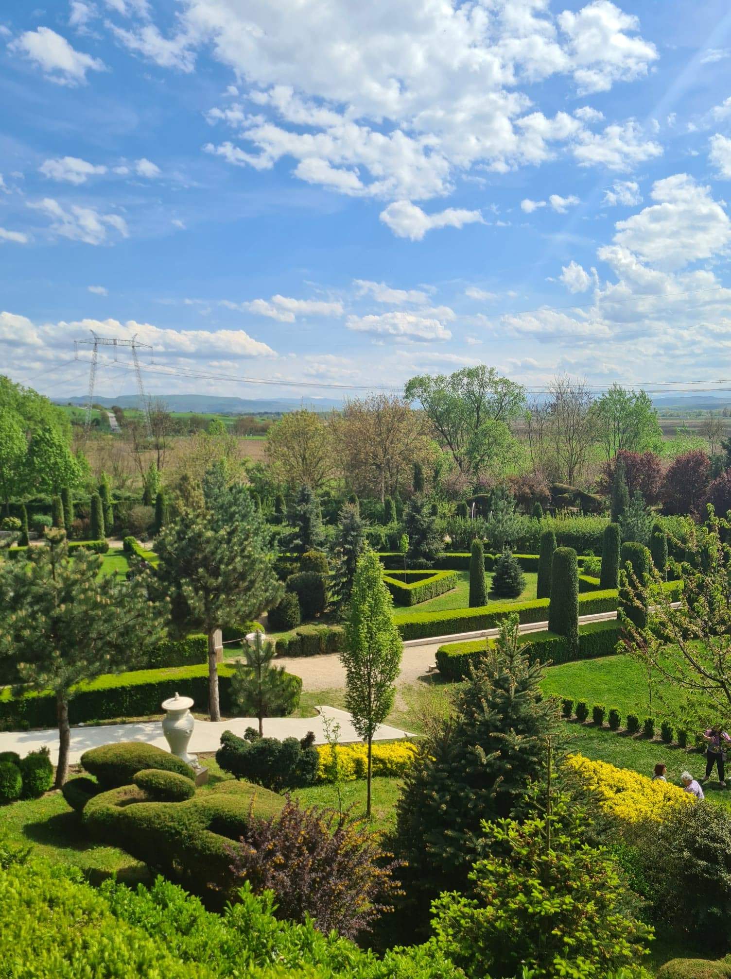
M569 755L565 766L599 798L605 812L623 822L659 821L670 809L695 801L694 796L677 785L653 781L647 775L617 769L607 762L591 762L583 755Z

